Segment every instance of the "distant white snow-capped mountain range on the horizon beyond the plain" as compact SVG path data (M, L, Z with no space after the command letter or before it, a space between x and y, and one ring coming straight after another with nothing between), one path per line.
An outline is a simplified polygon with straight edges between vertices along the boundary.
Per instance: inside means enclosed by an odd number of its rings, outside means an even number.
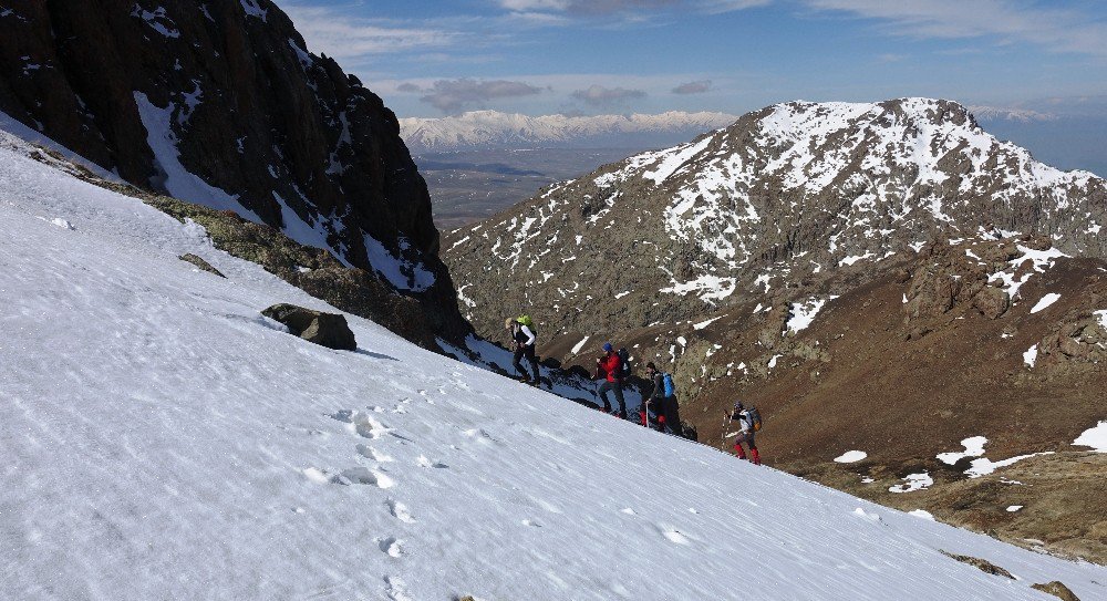
M643 147L673 144L738 117L726 113L670 111L658 115L542 115L473 111L442 118L400 120L400 135L412 153L510 146Z

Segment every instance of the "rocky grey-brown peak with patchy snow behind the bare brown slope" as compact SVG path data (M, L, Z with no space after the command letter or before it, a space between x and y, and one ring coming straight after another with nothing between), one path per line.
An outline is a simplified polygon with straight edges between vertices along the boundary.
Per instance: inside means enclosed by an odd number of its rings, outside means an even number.
M1034 232L1105 257L1105 221L1101 178L1035 162L955 103L796 102L555 185L452 232L444 258L478 331L499 282L523 278L555 330L587 332L880 269L933 240ZM631 290L645 294L612 301Z

